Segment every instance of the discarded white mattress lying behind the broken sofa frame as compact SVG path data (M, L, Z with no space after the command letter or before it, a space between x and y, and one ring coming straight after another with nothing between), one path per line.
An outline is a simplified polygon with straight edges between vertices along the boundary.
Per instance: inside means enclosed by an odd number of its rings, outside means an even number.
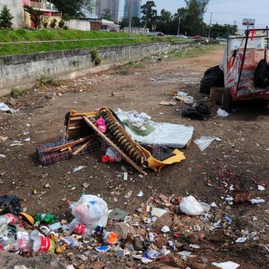
M150 134L141 136L125 126L130 137L137 143L160 145L168 148L185 148L194 134L194 127L192 126L157 123L152 121L150 116L145 113L139 114L134 110L126 112L119 109L116 114L122 122L130 121L134 126L139 127L140 125L142 128L143 124L149 124L154 128Z

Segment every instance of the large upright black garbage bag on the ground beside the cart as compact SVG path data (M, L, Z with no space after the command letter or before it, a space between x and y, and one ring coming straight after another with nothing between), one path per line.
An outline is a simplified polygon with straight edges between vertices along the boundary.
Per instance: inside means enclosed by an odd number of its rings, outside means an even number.
M204 77L200 82L200 92L210 93L211 87L224 87L224 73L219 65L205 71Z

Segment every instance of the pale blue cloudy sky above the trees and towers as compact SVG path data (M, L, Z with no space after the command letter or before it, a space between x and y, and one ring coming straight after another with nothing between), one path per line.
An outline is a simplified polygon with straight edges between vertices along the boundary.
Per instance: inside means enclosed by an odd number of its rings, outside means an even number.
M143 0L145 3L147 0ZM172 14L178 8L185 7L184 0L154 0L156 9L160 11L164 8ZM123 14L124 0L120 4L120 16ZM204 14L204 22L210 22L211 12L212 23L230 23L237 21L239 28L242 28L242 21L246 19L256 19L256 27L266 27L269 25L269 0L210 0L207 12Z

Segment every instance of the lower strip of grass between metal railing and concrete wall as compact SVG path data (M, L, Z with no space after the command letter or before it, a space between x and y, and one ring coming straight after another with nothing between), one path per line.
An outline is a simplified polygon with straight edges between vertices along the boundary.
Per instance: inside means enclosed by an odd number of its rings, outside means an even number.
M136 36L131 38L91 38L71 40L36 40L0 43L0 56L29 54L43 51L60 51L65 49L82 49L88 47L106 47L134 43L172 42L166 36ZM184 40L183 40L184 41Z

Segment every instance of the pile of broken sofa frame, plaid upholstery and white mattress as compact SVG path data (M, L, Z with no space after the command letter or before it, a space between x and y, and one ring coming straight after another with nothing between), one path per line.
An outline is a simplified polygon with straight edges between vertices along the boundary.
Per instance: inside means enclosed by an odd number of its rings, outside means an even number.
M65 139L37 148L43 165L106 149L104 163L127 161L143 176L145 168L159 172L165 165L185 160L183 152L194 132L191 126L156 123L145 113L114 113L108 108L91 113L71 110L65 117Z

